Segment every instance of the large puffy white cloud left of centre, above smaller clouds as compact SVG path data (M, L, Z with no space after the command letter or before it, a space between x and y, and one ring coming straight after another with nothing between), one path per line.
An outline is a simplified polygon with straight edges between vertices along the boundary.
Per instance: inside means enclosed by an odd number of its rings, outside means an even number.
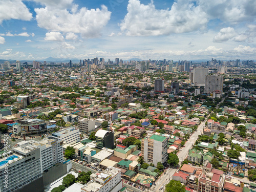
M101 30L110 20L111 12L108 8L102 5L101 9L89 10L82 7L77 10L77 6L73 5L73 8L74 6L76 9L72 9L71 12L48 6L35 9L38 27L50 31L80 33L86 38L100 36Z

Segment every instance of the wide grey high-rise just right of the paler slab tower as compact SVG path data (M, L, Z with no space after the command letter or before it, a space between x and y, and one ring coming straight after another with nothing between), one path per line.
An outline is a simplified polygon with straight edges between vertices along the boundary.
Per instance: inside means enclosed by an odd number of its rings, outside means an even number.
M204 93L213 91L223 91L223 76L221 75L206 75Z

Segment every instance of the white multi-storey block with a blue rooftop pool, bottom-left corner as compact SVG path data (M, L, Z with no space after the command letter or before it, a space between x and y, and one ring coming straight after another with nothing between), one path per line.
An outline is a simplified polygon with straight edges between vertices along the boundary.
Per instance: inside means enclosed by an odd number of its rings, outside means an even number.
M0 160L0 189L2 192L16 191L42 178L39 147L28 145L28 141L22 141L17 143L12 150L12 155L7 155L6 158ZM8 174L5 173L7 165ZM7 187L5 187L6 175L8 175ZM37 191L41 191L40 186Z

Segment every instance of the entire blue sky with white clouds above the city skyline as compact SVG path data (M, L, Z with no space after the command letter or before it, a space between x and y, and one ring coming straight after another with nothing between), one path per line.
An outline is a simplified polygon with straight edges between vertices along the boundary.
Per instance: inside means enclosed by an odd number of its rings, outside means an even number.
M0 59L255 59L255 0L0 0Z

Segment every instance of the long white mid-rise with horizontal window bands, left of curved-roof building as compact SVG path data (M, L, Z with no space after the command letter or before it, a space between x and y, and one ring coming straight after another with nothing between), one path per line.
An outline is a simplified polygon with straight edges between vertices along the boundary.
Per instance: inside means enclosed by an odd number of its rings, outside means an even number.
M79 128L73 126L55 132L52 136L62 139L64 144L74 144L80 141Z

